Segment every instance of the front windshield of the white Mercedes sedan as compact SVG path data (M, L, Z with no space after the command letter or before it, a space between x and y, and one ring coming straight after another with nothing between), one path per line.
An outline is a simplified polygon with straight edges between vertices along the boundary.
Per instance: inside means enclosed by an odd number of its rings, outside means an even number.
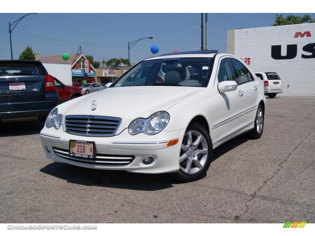
M206 87L212 58L168 58L142 61L112 87Z

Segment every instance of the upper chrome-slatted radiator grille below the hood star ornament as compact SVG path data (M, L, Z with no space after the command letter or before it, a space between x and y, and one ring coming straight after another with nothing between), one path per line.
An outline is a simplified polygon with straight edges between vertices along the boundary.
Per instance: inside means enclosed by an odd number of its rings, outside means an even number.
M67 115L66 132L80 136L110 137L114 136L121 119L97 115Z

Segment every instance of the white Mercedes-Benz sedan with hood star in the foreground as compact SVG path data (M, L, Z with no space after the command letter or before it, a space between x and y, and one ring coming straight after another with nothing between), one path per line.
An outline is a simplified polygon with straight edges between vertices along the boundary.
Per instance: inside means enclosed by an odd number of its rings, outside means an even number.
M264 84L217 51L140 61L110 87L56 106L40 132L49 160L103 170L205 176L213 149L264 127Z

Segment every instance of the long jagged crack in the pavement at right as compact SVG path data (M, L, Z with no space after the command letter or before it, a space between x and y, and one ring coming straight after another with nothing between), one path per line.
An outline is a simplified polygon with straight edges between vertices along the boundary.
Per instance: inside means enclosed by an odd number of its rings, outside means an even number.
M274 177L276 177L276 175L277 175L277 174L281 171L281 169L283 168L283 164L284 164L285 162L287 162L287 160L290 158L290 156L295 152L296 149L298 149L298 148L301 146L301 144L304 142L304 140L306 140L306 139L311 135L311 133L312 133L312 132L309 132L309 133L301 140L301 142L298 143L298 144L289 152L289 154L284 158L284 160L281 161L281 162L278 164L277 170L271 175L271 177L265 179L265 180L263 181L263 184L262 184L261 186L259 186L252 194L250 194L250 199L248 199L248 200L245 202L245 211L244 211L242 214L240 214L240 216L242 216L242 215L244 215L245 213L248 212L248 210L249 210L248 203L250 203L251 201L253 201L253 200L256 198L257 194L262 190L262 188L265 187L266 184L267 184L270 180L272 180Z

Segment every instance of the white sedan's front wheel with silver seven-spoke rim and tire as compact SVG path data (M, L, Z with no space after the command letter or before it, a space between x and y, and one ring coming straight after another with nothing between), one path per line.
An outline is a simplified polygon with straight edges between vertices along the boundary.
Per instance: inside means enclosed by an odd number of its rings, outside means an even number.
M197 143L200 137L202 138ZM179 154L180 169L173 173L173 177L180 182L203 178L211 164L212 156L212 141L208 131L199 123L193 123L184 134Z

